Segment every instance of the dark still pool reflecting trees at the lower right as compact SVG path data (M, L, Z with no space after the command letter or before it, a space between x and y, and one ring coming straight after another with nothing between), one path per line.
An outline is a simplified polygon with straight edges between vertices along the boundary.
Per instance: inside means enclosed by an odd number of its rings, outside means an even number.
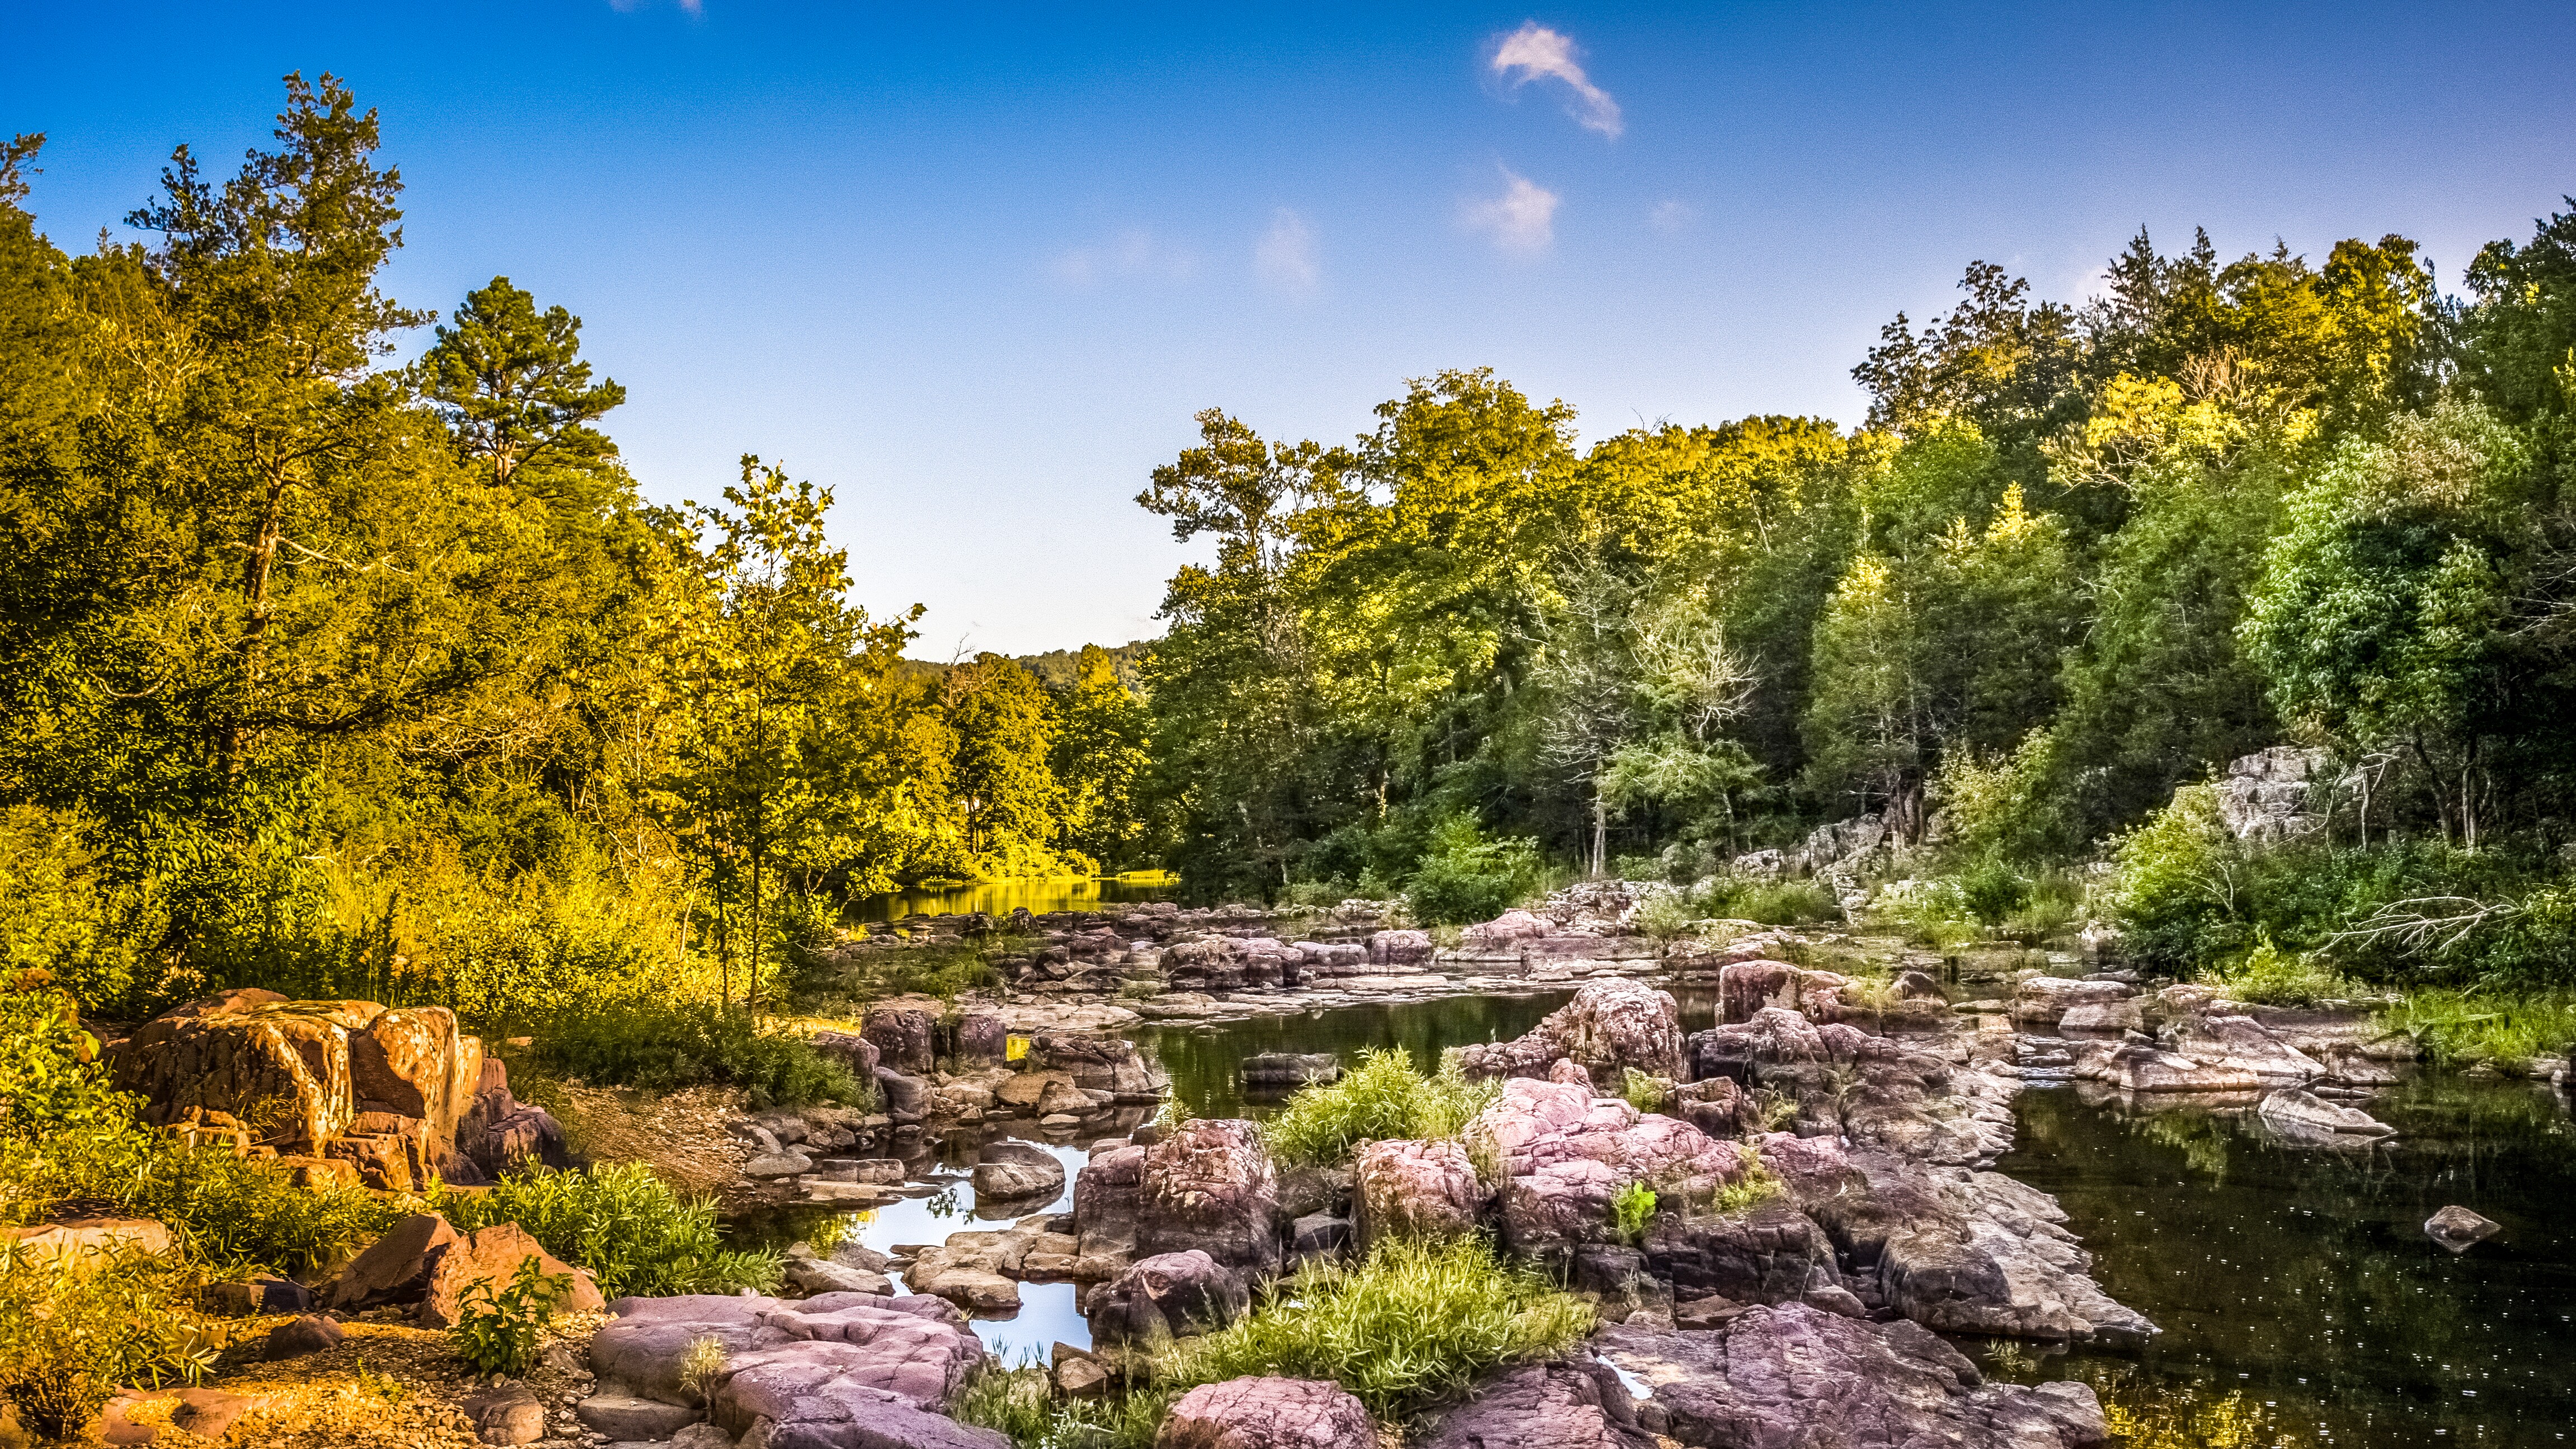
M2141 1403L2197 1380L2249 1387L2282 1423L2326 1423L2339 1441L2561 1428L2576 1395L2576 1328L2561 1318L2576 1300L2566 1117L2548 1094L2455 1078L2370 1109L2401 1138L2318 1150L2251 1114L2022 1094L2020 1148L1999 1168L2058 1194L2102 1287L2164 1328L2141 1364L2076 1354L2079 1372L2136 1372ZM2506 1233L2452 1259L2421 1228L2445 1202ZM2156 1431L2197 1444L2195 1403L2215 1400L2184 1400Z

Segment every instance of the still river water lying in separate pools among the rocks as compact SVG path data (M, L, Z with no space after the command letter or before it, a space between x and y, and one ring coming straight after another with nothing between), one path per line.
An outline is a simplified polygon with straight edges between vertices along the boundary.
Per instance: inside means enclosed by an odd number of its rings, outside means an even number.
M1677 996L1685 1027L1710 1022L1710 993ZM1329 1050L1347 1063L1365 1048L1401 1048L1427 1068L1445 1048L1522 1035L1564 999L1342 1006L1136 1037L1195 1114L1260 1117L1273 1102L1247 1099L1236 1076L1252 1053ZM1996 1168L2053 1192L2102 1287L2164 1333L2136 1354L1963 1338L1986 1372L2092 1382L2138 1416L2133 1449L2519 1449L2576 1434L2576 1127L2550 1089L2424 1076L2370 1104L2398 1138L2365 1150L2293 1148L2249 1114L2141 1112L2089 1096L2099 1094L2025 1091L2017 1145ZM1087 1158L1041 1145L1069 1176ZM850 1215L858 1241L938 1243L976 1225L971 1161L963 1135L935 1148L914 1166L914 1192L930 1194ZM2452 1256L2421 1228L2447 1202L2504 1230ZM1069 1207L1066 1192L1012 1212ZM783 1246L822 1217L775 1210L739 1228L744 1241ZM1090 1343L1072 1284L1023 1284L1023 1310L979 1320L976 1333L1002 1361Z

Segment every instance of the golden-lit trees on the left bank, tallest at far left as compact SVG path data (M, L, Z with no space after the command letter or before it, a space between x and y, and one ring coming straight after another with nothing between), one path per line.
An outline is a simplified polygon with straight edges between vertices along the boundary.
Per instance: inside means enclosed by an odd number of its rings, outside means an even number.
M580 319L384 291L402 178L337 80L232 175L180 147L149 242L54 247L39 147L0 152L15 965L103 1009L693 963L739 1001L850 896L1146 857L1118 656L912 667L920 607L850 600L775 461L641 502Z

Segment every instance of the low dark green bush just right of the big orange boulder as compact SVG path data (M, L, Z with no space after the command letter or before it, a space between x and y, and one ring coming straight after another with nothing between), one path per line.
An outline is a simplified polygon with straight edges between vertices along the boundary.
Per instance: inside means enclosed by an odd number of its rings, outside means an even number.
M536 1066L592 1086L739 1086L755 1107L871 1102L871 1084L804 1037L750 1011L677 1001L616 1001L564 1011L536 1027Z

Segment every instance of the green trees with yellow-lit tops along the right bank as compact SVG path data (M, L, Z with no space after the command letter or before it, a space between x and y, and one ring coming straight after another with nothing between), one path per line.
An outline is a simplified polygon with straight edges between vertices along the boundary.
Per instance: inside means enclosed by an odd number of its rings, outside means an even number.
M2393 234L2313 263L2141 232L2099 296L1976 263L1899 314L1850 430L1582 445L1492 371L1340 445L1203 412L1139 499L1216 540L1141 672L1175 857L1213 893L1690 880L1870 813L2045 870L2293 741L2372 785L2347 844L2553 878L2576 211L2463 283Z

